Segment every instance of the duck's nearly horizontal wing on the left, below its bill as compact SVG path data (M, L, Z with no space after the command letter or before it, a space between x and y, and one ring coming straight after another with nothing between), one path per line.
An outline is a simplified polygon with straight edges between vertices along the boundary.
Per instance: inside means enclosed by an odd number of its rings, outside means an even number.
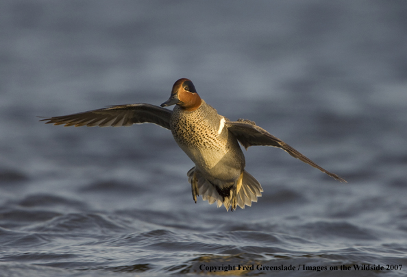
M109 106L99 110L79 112L73 115L62 115L60 117L49 117L40 121L48 121L53 125L66 126L130 126L137 123L154 123L163 128L170 129L169 121L171 110L160 108L151 104L129 104Z

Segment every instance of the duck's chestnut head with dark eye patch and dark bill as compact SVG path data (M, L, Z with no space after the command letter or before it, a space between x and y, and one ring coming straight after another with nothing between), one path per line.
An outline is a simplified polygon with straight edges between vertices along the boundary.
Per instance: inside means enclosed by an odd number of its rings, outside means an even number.
M171 96L167 101L161 104L162 107L178 105L184 110L193 111L201 106L201 97L199 97L193 82L186 78L177 80L173 85Z

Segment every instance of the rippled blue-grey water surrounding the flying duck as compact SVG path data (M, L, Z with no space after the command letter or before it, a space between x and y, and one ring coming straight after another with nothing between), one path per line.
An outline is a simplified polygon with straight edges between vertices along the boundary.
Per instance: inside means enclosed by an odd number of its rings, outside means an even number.
M250 147L264 193L226 212L193 202L168 130L36 118L159 105L180 77L349 183ZM407 276L404 0L3 0L0 116L2 277Z

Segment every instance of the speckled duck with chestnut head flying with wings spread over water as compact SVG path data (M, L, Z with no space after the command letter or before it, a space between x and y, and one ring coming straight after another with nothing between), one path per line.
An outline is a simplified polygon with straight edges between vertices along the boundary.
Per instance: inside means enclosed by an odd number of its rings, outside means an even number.
M171 105L175 105L172 111L161 108ZM230 121L219 115L199 97L193 82L186 78L175 82L171 96L161 107L143 103L108 106L40 121L75 127L154 123L171 130L177 144L195 163L195 167L187 173L195 203L197 196L201 195L204 201L209 204L217 202L218 207L224 205L226 210L251 206L251 202L257 202L263 191L260 183L245 171L245 156L238 143L246 150L252 145L279 147L332 178L346 182L260 128L254 121Z

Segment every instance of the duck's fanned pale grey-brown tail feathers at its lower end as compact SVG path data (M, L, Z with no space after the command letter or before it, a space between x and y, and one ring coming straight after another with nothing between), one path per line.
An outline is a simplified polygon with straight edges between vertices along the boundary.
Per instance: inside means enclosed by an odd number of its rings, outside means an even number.
M214 204L217 202L218 208L222 205L225 206L226 210L229 210L232 206L232 196L233 189L230 190L230 195L227 197L222 197L219 195L217 189L211 184L202 173L193 167L187 173L188 182L192 185L193 175L197 178L197 186L199 195L202 195L202 200L208 201L209 204ZM251 206L251 202L257 202L257 197L262 196L262 186L260 183L247 171L243 171L242 184L240 188L238 187L237 192L237 204L240 208L245 208L245 205Z

